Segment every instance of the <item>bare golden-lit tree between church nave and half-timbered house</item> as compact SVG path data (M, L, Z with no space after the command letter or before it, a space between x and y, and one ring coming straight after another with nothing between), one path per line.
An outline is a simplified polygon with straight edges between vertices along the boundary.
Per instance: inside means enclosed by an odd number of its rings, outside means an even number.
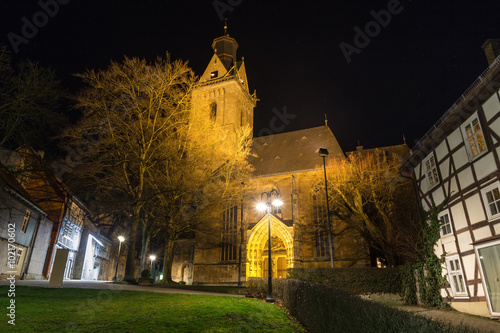
M400 157L383 151L354 152L328 169L334 214L356 229L389 266L419 239L411 183L399 175ZM404 209L402 209L404 207Z

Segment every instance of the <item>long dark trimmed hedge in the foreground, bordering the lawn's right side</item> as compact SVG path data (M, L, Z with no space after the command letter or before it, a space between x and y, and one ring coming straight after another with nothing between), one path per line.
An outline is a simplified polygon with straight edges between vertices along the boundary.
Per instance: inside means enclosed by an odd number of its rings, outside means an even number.
M248 295L267 295L267 279L250 278ZM273 280L273 295L311 332L473 332L365 301L345 290L310 282Z

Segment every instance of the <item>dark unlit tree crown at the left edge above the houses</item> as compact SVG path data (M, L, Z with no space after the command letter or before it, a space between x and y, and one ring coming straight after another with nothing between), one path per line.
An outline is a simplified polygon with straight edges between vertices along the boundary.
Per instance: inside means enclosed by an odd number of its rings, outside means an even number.
M46 149L65 122L58 112L63 97L53 70L31 61L13 67L0 46L0 147Z

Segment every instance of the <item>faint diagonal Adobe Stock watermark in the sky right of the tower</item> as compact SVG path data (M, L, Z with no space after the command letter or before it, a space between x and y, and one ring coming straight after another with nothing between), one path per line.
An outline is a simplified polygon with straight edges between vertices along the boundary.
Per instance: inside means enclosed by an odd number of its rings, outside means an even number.
M340 50L345 57L348 64L352 62L353 54L360 54L361 50L368 47L371 42L371 38L375 38L382 32L382 28L386 28L392 21L392 16L400 14L404 7L401 5L399 0L390 0L387 3L387 9L382 9L378 12L372 10L370 15L374 20L369 21L364 26L364 31L358 27L354 27L353 44L351 45L346 42L339 44Z

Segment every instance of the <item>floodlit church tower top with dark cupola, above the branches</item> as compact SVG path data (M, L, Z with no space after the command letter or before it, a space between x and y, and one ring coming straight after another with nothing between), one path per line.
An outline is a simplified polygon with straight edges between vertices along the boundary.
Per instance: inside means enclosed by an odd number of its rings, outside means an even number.
M253 130L256 93L250 94L243 58L237 60L238 43L227 33L212 43L214 55L193 91L193 104L209 109L210 118L224 127Z

